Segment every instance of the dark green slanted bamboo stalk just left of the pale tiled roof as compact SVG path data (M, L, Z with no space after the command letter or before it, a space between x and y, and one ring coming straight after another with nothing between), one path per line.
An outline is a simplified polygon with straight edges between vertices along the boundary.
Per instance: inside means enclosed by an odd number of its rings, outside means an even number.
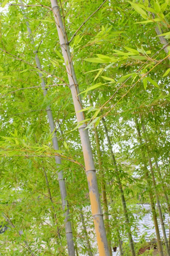
M133 239L132 239L132 233L131 233L131 229L130 229L130 222L129 222L129 216L128 216L127 207L126 207L126 201L125 201L125 198L124 198L124 192L123 192L122 184L121 184L121 181L120 181L120 178L119 178L119 175L118 175L118 168L117 168L115 156L113 154L112 145L111 145L111 142L110 142L110 138L109 138L109 135L108 135L108 131L107 131L107 128L106 128L104 118L102 118L102 122L103 122L104 130L105 130L105 134L106 134L106 138L107 138L108 147L109 147L109 150L110 150L110 153L111 153L113 166L115 167L115 171L117 173L117 182L118 182L119 191L120 191L120 195L121 195L121 202L122 202L122 206L123 206L125 221L129 226L129 228L127 230L128 239L129 239L129 246L130 246L131 254L134 256L135 255L135 248L134 248L134 242L133 242Z

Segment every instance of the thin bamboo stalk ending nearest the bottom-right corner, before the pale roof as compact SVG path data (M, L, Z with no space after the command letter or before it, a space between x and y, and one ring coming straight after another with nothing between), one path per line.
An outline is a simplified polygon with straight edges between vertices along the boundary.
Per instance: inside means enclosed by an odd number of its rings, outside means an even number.
M144 141L145 141L147 152L148 152L148 162L149 162L150 172L151 172L153 186L154 186L154 190L155 190L156 203L157 203L159 218L160 218L160 221L161 221L161 227L162 227L162 231L163 231L164 244L165 244L165 247L166 247L167 256L170 256L169 245L168 245L168 240L167 240L167 237L166 237L166 231L165 231L165 226L164 226L164 221L163 221L163 216L162 216L162 211L161 211L161 205L160 205L160 201L159 201L157 190L156 190L155 176L154 176L154 172L153 172L153 168L152 168L152 162L151 162L151 159L149 157L150 154L149 154L149 149L148 149L148 145L147 145L148 142L147 142L147 138L146 138L146 134L145 134L146 133L146 127L144 126L144 122L142 120L141 115L140 115L140 118L141 118L141 122L142 122L142 131L143 131L143 134L144 134Z

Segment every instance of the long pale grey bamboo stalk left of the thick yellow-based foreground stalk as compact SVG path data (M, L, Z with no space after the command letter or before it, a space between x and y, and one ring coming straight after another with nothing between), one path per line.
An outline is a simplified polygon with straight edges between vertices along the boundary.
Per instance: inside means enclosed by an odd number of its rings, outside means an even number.
M20 0L20 3L22 4L22 1ZM25 16L25 10L24 7L21 6L22 9L22 13L25 19L27 19L27 17ZM27 26L27 30L31 39L31 43L35 45L34 43L34 39L32 37L32 32L31 29L29 27L29 23L26 22L26 26ZM35 61L36 61L36 65L38 68L41 68L41 64L40 64L40 60L38 58L37 52L36 52L36 48L35 48ZM39 77L42 77L42 74L38 72ZM42 89L43 89L43 94L44 97L47 94L47 89L45 88L46 84L43 78L41 78L41 85L42 85ZM49 120L49 125L50 125L50 131L51 133L53 133L52 136L52 143L53 143L53 147L55 150L59 150L59 146L58 146L58 141L57 141L57 135L56 135L56 130L55 130L55 126L54 126L54 119L52 116L52 111L50 109L50 106L47 106L46 108L47 111L47 115L48 115L48 120ZM57 156L55 156L55 162L57 164L57 169L61 166L61 159ZM62 207L63 207L63 211L64 211L64 222L65 222L65 233L66 233L66 240L67 240L67 249L68 249L68 255L69 256L75 256L75 249L74 249L74 242L73 242L73 233L72 233L72 228L71 228L71 222L68 221L69 217L69 206L68 206L68 202L67 200L65 200L67 193L66 193L66 188L65 188L65 180L63 178L63 171L59 171L58 172L58 180L59 180L59 186L60 186L60 193L61 193L61 198L62 198ZM66 207L66 211L65 211L65 207Z

